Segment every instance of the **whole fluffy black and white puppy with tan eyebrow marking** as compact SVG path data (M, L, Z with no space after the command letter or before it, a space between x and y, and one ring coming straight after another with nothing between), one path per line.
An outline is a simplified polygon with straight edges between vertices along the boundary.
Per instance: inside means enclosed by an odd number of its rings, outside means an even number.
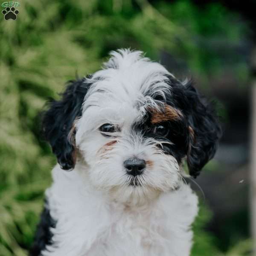
M58 164L32 256L189 255L198 198L182 161L196 177L221 133L190 81L140 51L111 52L50 102L43 132Z

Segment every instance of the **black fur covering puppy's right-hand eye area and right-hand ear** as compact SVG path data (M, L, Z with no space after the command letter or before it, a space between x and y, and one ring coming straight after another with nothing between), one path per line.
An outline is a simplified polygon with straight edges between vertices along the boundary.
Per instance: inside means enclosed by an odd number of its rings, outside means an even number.
M189 174L197 177L204 165L214 156L218 140L221 137L221 127L211 105L204 102L198 91L193 87L192 81L181 84L177 79L170 77L171 93L166 95L166 101L157 96L157 100L180 111L182 115L177 119L170 119L152 123L152 111L139 123L133 125L133 130L143 132L145 137L171 142L173 145L163 144L166 154L175 157L181 163L186 157ZM163 112L164 112L163 108ZM166 136L154 133L157 125L169 129Z

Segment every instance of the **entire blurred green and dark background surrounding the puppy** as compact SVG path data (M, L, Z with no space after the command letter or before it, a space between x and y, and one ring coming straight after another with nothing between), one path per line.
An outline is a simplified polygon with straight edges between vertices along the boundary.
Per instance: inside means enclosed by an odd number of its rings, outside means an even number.
M190 181L201 198L192 256L252 255L256 1L18 2L17 20L0 14L0 256L27 254L51 183L55 157L40 137L38 113L67 80L93 73L124 47L193 78L221 116L218 152L198 185Z

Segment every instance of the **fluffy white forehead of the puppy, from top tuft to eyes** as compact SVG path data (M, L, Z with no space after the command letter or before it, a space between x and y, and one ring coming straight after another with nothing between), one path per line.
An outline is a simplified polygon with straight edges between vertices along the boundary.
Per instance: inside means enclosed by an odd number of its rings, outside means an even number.
M102 122L120 123L122 119L131 123L145 112L146 106L157 108L156 96L165 99L170 90L168 76L172 74L165 67L145 58L141 51L111 52L102 70L85 81L91 85L84 99L82 119L95 126Z

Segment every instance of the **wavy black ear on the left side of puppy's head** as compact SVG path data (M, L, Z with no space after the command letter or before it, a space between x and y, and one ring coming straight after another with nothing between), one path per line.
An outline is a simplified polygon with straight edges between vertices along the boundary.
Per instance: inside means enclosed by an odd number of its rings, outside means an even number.
M49 101L49 110L43 113L43 136L64 170L73 169L76 163L73 124L81 116L82 103L89 87L85 79L70 81L61 99Z

